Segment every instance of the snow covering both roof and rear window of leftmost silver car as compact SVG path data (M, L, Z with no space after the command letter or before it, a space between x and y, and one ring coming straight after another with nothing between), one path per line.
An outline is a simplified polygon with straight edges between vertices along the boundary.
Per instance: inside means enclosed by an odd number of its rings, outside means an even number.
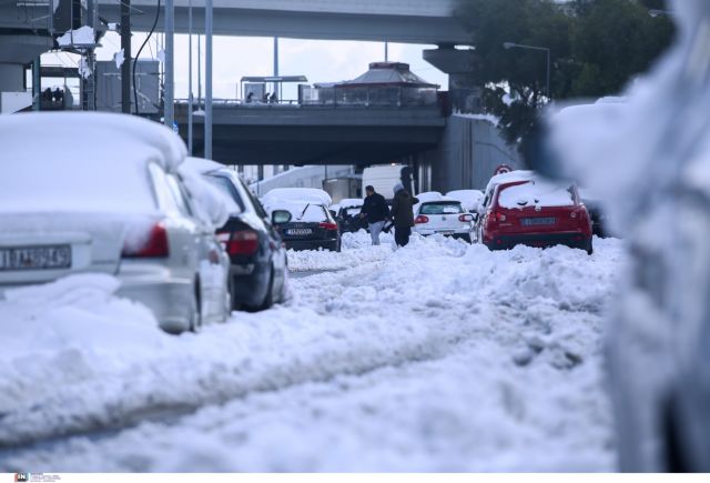
M153 213L148 165L174 172L186 149L172 130L134 115L0 117L0 211Z

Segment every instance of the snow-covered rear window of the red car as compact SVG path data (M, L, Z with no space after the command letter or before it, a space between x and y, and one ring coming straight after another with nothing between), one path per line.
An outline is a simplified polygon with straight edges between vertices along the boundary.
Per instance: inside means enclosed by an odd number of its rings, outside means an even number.
M498 193L498 204L508 209L572 207L575 204L575 187L562 187L541 180L503 187Z

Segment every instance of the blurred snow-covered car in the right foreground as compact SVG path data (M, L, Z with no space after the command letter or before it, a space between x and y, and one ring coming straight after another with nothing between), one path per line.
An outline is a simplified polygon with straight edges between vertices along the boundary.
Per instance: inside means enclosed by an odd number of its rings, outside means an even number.
M592 189L628 263L608 324L619 469L710 472L710 2L669 2L676 44L617 102L549 120L530 159Z

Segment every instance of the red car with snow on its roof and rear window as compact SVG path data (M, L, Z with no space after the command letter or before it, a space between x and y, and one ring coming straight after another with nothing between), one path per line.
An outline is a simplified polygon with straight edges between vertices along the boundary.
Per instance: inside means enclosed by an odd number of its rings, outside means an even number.
M561 187L529 171L494 177L486 189L476 227L490 250L517 244L564 244L592 253L591 221L575 185Z

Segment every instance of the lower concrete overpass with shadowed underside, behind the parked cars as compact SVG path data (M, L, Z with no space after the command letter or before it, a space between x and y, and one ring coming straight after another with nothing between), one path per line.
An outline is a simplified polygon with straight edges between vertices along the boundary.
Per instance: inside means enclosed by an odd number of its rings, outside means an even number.
M175 118L186 138L187 107ZM195 117L194 148L203 149L203 118ZM437 147L446 119L437 107L248 107L217 103L213 158L227 164L373 164Z

